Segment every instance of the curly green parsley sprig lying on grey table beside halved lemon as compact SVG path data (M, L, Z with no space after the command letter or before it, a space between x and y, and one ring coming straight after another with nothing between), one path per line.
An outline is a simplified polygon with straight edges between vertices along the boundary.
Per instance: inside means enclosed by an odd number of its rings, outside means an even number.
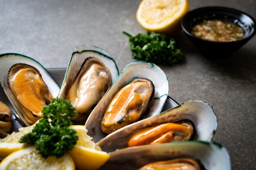
M161 65L171 65L183 60L183 53L177 47L175 39L168 35L153 32L134 35L126 30L123 33L130 37L129 44L134 59Z

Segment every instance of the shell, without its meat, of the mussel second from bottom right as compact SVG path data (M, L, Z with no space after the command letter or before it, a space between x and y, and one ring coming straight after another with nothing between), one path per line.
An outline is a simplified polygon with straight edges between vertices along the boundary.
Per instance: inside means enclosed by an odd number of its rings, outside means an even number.
M210 141L217 129L217 117L211 107L205 102L193 100L184 102L157 116L119 129L101 139L98 144L103 151L112 152L117 149L126 148L128 140L136 131L159 124L179 121L193 122L195 134L190 140Z

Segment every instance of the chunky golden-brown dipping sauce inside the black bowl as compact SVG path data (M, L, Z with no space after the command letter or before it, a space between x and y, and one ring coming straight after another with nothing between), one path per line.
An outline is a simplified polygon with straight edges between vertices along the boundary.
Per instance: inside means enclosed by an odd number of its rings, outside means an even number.
M231 22L204 20L193 27L192 34L208 41L229 42L242 39L243 29Z

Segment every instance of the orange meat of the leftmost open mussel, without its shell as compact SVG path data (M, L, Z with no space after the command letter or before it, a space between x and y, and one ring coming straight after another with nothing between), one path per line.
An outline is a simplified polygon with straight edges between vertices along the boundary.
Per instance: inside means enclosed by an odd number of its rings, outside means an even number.
M31 125L43 115L41 110L53 99L40 72L33 66L17 63L11 66L7 83L22 109L25 120Z

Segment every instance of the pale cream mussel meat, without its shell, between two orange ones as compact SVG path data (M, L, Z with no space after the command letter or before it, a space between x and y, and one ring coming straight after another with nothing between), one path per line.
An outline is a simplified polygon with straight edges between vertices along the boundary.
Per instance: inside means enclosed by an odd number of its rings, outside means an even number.
M94 57L85 59L67 90L66 99L71 100L71 104L78 112L74 120L84 121L111 84L110 70L102 61Z

